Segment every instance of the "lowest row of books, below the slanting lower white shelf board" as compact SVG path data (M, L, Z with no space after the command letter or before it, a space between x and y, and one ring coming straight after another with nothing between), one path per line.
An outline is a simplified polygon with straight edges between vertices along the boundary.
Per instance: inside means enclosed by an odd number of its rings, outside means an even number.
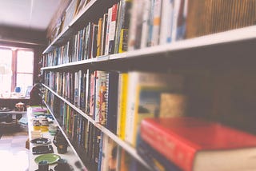
M147 170L130 156L121 146L100 129L87 121L69 105L48 93L48 102L52 104L54 117L66 133L79 157L90 170ZM50 107L50 108L51 108Z

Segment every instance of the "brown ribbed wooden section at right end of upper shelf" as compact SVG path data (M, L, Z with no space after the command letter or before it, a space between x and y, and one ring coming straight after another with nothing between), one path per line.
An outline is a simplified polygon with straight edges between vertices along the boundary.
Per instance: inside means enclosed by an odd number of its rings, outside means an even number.
M186 38L214 34L256 22L255 0L189 0Z

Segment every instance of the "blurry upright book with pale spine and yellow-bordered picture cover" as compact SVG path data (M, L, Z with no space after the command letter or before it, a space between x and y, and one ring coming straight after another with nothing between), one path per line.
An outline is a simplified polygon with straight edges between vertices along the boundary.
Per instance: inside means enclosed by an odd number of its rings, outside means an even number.
M129 72L126 91L125 141L136 147L142 119L157 117L161 94L179 92L183 89L183 85L184 78L178 74Z

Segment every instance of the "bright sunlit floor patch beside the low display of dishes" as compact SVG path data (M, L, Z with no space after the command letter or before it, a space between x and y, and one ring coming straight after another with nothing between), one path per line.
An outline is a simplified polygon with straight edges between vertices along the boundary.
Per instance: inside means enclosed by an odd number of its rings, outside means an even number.
M0 170L27 171L29 150L26 149L27 132L3 133L0 138Z

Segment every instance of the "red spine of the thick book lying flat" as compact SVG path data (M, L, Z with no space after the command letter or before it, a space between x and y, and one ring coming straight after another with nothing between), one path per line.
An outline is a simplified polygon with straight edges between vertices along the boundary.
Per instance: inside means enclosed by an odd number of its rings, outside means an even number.
M196 149L188 145L178 135L167 133L161 125L143 120L141 123L141 137L158 153L161 153L181 169L185 171L193 169Z

